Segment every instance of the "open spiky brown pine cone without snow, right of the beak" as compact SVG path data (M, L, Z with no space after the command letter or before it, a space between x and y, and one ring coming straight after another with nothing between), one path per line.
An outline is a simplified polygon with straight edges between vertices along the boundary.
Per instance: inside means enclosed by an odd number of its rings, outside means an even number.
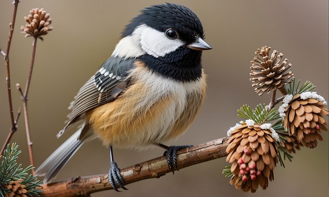
M294 75L290 71L291 64L288 64L288 59L283 59L283 54L278 54L277 50L273 50L269 58L270 49L271 47L265 46L255 51L255 54L262 58L254 57L250 62L252 87L255 87L254 91L259 95L276 91L277 88L283 95L286 95L284 85L291 83L291 77Z

